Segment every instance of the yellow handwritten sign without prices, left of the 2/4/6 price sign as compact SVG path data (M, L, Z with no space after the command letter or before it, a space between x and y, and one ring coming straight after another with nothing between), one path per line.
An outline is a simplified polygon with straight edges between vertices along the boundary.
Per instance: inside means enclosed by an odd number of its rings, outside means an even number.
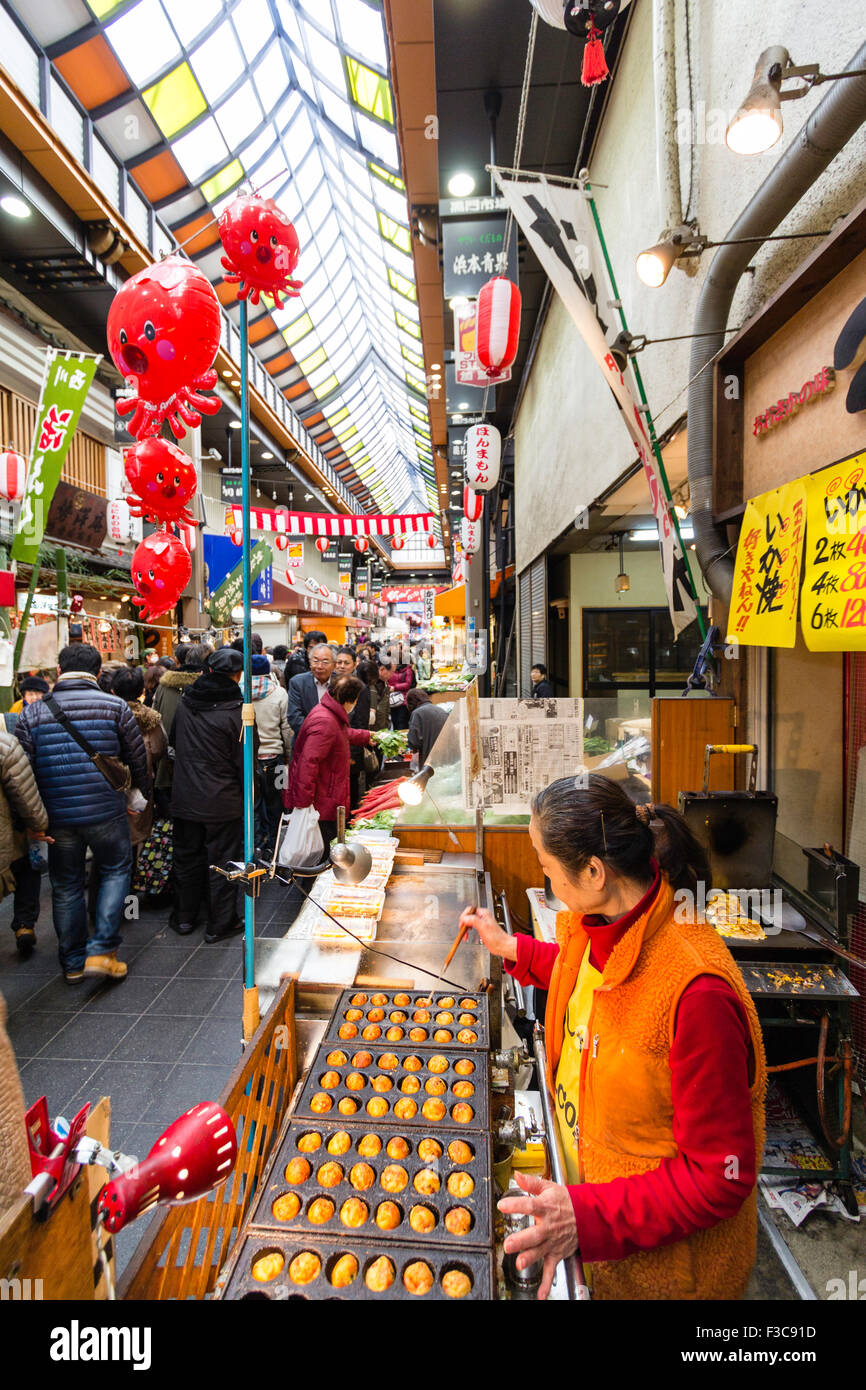
M794 646L805 527L803 478L746 503L737 546L728 642Z

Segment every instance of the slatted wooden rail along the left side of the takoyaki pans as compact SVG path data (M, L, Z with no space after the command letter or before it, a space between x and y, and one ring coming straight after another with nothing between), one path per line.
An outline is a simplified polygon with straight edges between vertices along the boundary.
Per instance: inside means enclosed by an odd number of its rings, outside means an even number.
M295 980L286 980L220 1095L238 1133L235 1172L197 1202L158 1212L118 1282L120 1298L207 1298L213 1293L296 1083Z

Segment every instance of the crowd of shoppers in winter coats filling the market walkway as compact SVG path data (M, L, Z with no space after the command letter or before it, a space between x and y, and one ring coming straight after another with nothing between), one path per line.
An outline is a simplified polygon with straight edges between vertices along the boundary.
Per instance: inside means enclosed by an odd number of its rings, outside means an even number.
M378 776L373 734L407 730L423 763L446 713L430 702L430 649L335 645L321 631L265 651L252 635L256 855L271 859L285 812L313 808L322 858L336 809ZM243 930L235 884L211 872L243 859L243 639L182 642L146 664L103 662L83 641L57 673L18 681L0 726L0 883L13 931L36 945L42 844L64 979L122 980L124 920L170 905L170 927L213 944Z

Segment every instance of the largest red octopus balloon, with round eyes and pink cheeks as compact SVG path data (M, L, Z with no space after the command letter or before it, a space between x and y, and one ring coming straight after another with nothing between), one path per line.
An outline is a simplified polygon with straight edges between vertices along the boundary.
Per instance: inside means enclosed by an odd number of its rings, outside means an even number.
M192 261L167 256L132 275L108 310L108 352L135 396L118 400L118 416L132 414L136 439L160 432L163 421L177 439L215 416L213 364L220 348L220 300ZM135 411L135 413L133 413Z

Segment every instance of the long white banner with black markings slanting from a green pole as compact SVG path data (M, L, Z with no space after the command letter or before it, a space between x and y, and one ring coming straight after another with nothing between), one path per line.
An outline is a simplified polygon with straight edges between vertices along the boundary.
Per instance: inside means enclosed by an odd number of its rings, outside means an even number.
M542 270L595 357L638 450L659 527L670 620L674 632L680 634L698 616L698 605L644 418L605 336L607 324L602 317L602 303L606 302L606 279L587 199L577 188L552 185L546 179L503 178L499 170L493 170L493 175Z

